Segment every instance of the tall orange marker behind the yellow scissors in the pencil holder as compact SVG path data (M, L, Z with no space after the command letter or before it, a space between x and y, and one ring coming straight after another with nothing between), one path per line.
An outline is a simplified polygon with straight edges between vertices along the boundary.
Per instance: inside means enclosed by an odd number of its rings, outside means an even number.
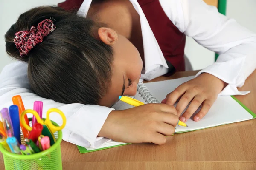
M19 116L20 116L21 113L23 111L25 111L21 96L20 95L13 96L12 97L12 102L13 102L14 105L17 105L19 107ZM27 115L25 115L24 118L25 118L26 124L29 125L29 119L28 119ZM21 127L24 138L28 138L29 137L29 131L26 130L25 127L23 127L23 125L21 124L21 121L20 121L20 127Z

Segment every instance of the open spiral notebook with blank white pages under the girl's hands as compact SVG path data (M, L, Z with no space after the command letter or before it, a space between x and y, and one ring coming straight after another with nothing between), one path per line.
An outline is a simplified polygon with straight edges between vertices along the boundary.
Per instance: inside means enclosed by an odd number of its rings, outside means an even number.
M141 102L144 102L144 103L157 102L157 101L161 102L163 99L165 99L168 93L172 92L177 86L179 86L183 82L186 82L192 79L193 77L194 76L183 77L180 79L166 80L161 82L151 82L151 83L145 83L144 85L142 83L137 86L137 94L136 96L134 96L134 99L140 100ZM121 101L113 105L113 108L115 108L116 110L123 110L131 107L133 106L128 105L125 102L121 102ZM200 108L198 108L198 111L199 110ZM195 114L198 111L196 111ZM218 96L217 100L212 105L212 108L210 108L209 112L207 113L206 116L204 116L203 119L201 119L199 122L194 122L192 119L189 119L186 122L188 127L177 125L175 133L183 133L183 132L188 132L193 130L205 129L208 127L225 125L225 124L234 123L234 122L241 122L241 121L253 119L255 117L256 117L256 114L254 114L252 111L246 108L235 97ZM78 148L80 153L88 153L96 150L117 147L125 144L127 143L120 143L120 142L112 141L110 139L109 140L106 139L106 142L96 149L85 148L80 146L78 146Z

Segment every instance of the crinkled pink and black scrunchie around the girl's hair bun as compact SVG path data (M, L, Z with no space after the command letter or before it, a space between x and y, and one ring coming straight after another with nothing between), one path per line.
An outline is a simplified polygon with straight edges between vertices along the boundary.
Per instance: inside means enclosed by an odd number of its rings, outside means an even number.
M43 41L44 37L55 30L52 20L45 19L38 23L38 26L32 26L30 31L19 31L15 33L14 43L16 48L20 50L20 56L24 57L29 51Z

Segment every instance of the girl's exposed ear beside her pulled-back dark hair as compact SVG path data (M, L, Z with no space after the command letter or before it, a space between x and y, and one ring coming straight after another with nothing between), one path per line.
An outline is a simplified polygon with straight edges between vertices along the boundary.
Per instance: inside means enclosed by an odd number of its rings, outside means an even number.
M98 29L99 39L107 45L113 45L118 40L116 31L111 28L101 27Z

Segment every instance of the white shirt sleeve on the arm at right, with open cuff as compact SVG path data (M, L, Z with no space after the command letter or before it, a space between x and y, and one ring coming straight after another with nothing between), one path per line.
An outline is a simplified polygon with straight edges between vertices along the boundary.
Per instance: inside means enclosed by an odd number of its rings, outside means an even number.
M228 85L220 95L247 94L248 91L239 92L237 87L244 85L245 79L256 69L256 35L203 0L160 2L181 32L219 54L217 61L197 76L206 72L226 82Z

